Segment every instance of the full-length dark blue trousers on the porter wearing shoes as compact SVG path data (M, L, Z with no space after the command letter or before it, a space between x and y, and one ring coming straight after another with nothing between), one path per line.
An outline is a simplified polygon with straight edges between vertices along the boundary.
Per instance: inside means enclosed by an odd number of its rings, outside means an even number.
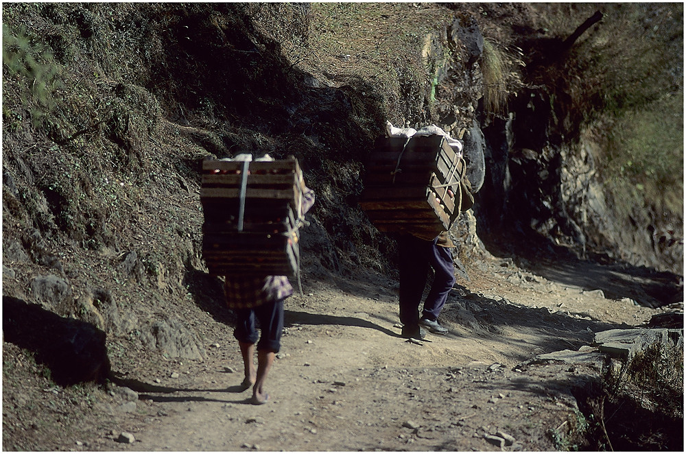
M414 328L419 326L419 304L429 276L429 267L434 268L434 283L424 301L422 317L436 320L445 305L450 289L455 284L455 267L449 248L427 241L401 235L398 238L400 256L400 321Z

